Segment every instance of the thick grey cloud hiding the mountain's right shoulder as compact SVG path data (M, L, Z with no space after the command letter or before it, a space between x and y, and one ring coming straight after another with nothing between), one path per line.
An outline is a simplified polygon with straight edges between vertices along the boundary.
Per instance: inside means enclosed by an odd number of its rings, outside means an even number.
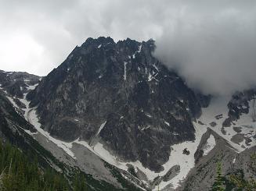
M255 6L187 6L165 26L155 54L190 87L206 94L232 94L255 86Z

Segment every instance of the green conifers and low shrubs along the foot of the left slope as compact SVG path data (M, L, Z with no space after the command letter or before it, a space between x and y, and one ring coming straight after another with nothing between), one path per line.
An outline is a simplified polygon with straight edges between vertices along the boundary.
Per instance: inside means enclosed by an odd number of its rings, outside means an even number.
M93 179L78 169L71 168L69 176L56 172L54 168L42 167L36 154L23 153L10 143L0 140L0 190L1 191L88 191L122 190L105 181ZM44 164L45 166L45 164ZM62 167L60 165L60 167ZM109 166L110 168L110 166ZM114 168L111 170L118 182L128 190L140 190L126 181Z

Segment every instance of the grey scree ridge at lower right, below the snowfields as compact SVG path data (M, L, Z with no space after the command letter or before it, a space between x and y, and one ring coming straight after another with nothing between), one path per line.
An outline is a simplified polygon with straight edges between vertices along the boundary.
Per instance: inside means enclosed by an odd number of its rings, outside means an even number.
M237 153L222 136L211 131L215 136L216 146L207 156L201 157L197 165L189 172L184 184L176 190L211 190L217 174L218 161L222 164L222 175L225 177L225 190L233 190L229 175L242 175L243 179L254 179L256 166L251 154L256 153L256 146ZM200 149L200 148L199 148ZM240 173L240 174L238 174ZM173 190L167 187L164 190Z

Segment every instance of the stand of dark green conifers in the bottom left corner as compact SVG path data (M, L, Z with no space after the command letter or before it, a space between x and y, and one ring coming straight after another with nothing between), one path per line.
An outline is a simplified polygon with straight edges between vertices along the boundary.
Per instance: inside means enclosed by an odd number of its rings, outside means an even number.
M41 168L36 156L23 154L17 147L0 140L0 190L47 190L84 191L85 178L80 172L74 173L69 184L67 179L55 169Z

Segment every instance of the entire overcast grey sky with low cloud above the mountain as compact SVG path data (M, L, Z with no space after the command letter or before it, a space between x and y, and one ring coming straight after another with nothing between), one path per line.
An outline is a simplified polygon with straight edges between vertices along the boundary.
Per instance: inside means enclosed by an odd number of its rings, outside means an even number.
M0 0L0 69L46 75L87 37L153 38L190 87L256 84L254 0Z

